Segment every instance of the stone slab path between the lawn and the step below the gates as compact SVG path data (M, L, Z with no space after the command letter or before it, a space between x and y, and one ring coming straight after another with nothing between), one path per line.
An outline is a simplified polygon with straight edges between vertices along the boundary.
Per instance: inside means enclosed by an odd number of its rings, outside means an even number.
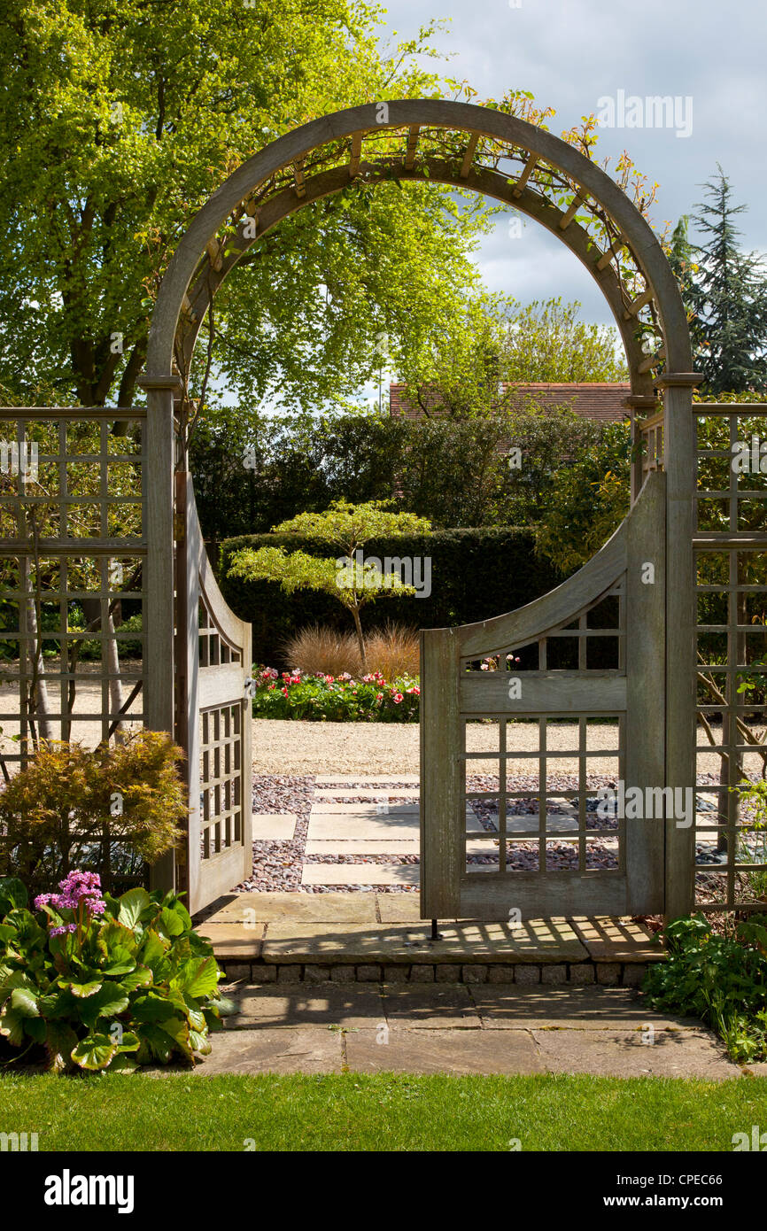
M243 986L203 1076L223 1072L592 1073L739 1077L699 1022L630 988ZM753 1071L767 1070L755 1065Z

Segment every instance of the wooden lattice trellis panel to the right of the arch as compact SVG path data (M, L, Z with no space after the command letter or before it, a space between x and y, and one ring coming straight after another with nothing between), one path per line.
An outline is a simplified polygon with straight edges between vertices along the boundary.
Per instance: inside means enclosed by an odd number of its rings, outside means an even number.
M765 910L767 835L736 789L767 773L767 406L698 404L696 905ZM767 449L767 444L766 444ZM712 753L715 769L712 769Z

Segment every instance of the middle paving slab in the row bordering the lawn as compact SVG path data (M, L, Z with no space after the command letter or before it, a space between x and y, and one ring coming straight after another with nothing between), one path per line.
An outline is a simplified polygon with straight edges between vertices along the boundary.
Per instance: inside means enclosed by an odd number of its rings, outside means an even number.
M504 1035L499 1045L497 1037L481 1030L393 1030L385 1043L364 1030L346 1035L346 1061L352 1071L366 1073L544 1072L533 1039L522 1032Z

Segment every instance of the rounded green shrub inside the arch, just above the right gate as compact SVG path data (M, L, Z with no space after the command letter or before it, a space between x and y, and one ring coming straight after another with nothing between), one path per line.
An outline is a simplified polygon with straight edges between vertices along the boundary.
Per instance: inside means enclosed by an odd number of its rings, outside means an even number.
M564 572L581 567L629 510L630 430L607 425L597 446L563 467L537 528L538 550Z

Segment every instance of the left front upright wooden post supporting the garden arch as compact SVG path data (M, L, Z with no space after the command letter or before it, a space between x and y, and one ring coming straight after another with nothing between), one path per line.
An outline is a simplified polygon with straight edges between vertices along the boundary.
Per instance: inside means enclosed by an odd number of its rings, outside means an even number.
M150 731L174 732L174 375L143 377L147 389L147 474L144 540L144 724ZM176 888L171 851L153 865L153 889Z

